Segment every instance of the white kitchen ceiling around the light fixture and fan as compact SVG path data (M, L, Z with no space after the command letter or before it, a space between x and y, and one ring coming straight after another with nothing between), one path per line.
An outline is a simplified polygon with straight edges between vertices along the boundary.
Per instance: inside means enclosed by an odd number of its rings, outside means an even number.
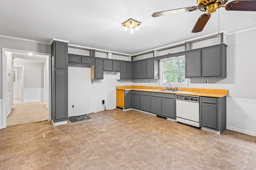
M231 2L233 0L230 0ZM1 0L0 35L69 44L134 55L218 32L218 12L204 30L191 33L198 10L153 18L154 12L196 6L196 0ZM142 22L131 34L122 23ZM220 8L220 31L256 27L256 12Z

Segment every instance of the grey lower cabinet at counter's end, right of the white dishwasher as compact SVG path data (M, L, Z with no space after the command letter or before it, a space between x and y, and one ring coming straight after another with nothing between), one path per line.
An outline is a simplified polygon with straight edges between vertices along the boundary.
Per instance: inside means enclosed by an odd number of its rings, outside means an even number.
M226 130L226 97L201 97L201 127Z

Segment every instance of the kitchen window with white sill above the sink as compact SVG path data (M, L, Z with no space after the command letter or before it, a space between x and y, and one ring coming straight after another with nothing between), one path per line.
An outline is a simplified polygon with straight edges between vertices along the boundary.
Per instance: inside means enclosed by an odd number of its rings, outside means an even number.
M187 86L185 79L185 56L162 59L160 62L161 84L167 81L177 86Z

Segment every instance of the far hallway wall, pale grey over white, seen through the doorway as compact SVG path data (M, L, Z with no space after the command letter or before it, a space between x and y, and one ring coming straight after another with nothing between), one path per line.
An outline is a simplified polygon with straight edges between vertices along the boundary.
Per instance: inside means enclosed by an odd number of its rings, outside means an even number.
M23 102L44 101L44 63L14 60L14 65L24 66ZM46 82L47 88L48 82L49 79Z

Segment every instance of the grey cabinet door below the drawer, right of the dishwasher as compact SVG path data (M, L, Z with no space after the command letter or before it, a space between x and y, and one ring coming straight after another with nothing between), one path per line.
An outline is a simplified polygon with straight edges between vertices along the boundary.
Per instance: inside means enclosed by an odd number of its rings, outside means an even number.
M217 129L217 105L202 103L202 127Z

